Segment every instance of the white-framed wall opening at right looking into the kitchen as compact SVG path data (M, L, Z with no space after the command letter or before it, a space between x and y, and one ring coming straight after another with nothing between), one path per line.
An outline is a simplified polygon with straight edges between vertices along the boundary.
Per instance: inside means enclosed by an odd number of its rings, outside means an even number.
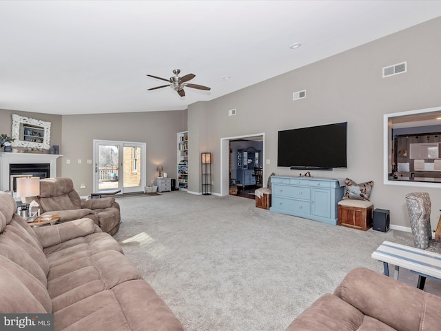
M384 184L441 188L441 107L384 114Z

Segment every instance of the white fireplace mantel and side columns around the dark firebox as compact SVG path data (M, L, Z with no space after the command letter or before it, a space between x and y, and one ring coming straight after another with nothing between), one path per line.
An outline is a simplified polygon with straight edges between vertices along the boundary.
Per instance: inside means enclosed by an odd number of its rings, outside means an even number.
M60 154L0 152L0 190L9 190L9 165L11 163L49 163L50 177L57 177L57 159L62 156Z

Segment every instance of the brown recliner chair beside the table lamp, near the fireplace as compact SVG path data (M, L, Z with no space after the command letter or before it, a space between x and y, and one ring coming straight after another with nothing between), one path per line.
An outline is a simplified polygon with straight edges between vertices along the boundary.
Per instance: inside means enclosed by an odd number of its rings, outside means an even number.
M61 222L88 218L108 234L119 230L121 214L114 197L81 199L70 178L41 179L40 195L33 199L43 214L57 214Z

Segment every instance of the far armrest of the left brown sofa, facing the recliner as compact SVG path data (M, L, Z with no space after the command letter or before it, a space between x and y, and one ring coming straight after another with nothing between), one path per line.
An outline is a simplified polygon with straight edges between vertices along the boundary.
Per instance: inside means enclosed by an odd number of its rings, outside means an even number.
M92 219L76 219L75 221L34 228L34 232L43 248L47 248L70 239L85 237L88 234L98 232L98 230L96 230Z

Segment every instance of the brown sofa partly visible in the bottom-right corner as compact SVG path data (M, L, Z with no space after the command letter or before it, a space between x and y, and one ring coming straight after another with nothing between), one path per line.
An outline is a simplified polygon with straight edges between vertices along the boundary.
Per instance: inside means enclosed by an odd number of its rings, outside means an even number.
M351 270L286 331L439 331L441 297L367 270Z

